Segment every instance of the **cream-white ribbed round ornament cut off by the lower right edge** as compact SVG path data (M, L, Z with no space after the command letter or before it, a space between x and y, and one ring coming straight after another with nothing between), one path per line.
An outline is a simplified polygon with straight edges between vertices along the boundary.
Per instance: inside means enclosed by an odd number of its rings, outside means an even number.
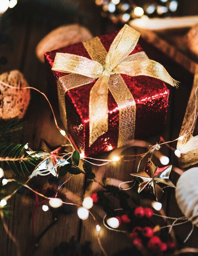
M185 217L198 227L198 167L180 176L176 185L176 200Z

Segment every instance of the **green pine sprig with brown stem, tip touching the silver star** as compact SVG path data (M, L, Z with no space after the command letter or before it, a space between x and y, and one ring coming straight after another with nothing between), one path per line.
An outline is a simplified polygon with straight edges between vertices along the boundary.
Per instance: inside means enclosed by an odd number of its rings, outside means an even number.
M25 156L25 146L7 142L0 144L0 167L4 170L11 169L15 175L31 173L40 162L40 157L35 157L33 154Z

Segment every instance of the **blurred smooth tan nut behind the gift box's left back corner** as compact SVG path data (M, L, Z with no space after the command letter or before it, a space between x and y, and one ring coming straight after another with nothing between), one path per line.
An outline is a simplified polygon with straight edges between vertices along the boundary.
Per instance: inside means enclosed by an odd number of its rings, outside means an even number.
M78 24L66 25L52 30L36 47L36 56L44 62L44 54L67 45L91 39L91 32Z

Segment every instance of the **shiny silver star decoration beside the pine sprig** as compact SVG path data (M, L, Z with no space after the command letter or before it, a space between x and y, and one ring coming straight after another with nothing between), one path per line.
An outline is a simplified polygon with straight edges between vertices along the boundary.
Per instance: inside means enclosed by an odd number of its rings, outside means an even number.
M60 146L51 151L49 144L43 139L41 140L41 148L42 152L35 151L26 151L28 155L36 158L43 158L42 162L36 166L33 173L29 176L32 178L33 176L41 175L46 176L50 173L53 176L57 176L57 168L58 166L64 166L65 164L69 164L67 160L62 158L63 154L67 154L64 146Z

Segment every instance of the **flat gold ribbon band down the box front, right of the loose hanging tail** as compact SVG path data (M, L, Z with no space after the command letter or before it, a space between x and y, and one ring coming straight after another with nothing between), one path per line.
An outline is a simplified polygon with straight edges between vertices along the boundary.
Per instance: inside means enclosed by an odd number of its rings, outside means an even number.
M136 102L120 74L113 74L108 81L108 87L118 104L119 135L118 147L134 138L136 124Z

